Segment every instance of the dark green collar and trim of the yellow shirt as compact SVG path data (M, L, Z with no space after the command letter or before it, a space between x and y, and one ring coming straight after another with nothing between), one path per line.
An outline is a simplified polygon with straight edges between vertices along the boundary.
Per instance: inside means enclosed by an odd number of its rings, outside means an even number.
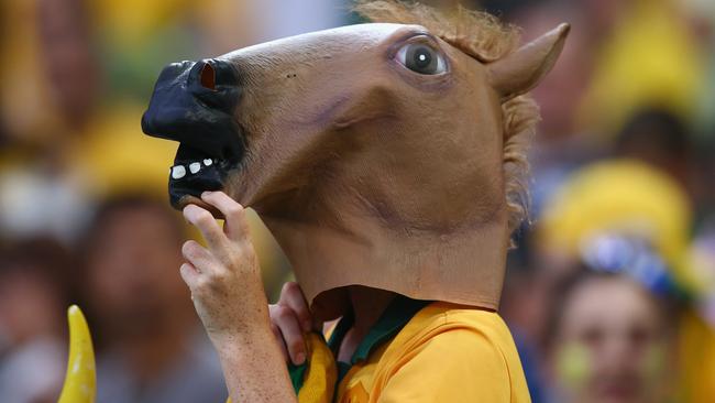
M380 319L377 319L377 323L375 323L372 329L370 329L367 336L365 336L365 338L360 342L355 352L352 355L350 362L337 362L339 370L338 383L342 381L343 377L352 366L366 360L375 348L395 337L421 308L430 303L431 301L411 299L403 295L395 296L389 305L387 305L387 308L385 308L385 312L381 315ZM333 353L337 353L340 344L353 324L354 317L352 313L346 314L342 319L340 319L330 336L330 340L328 341L328 347L333 351ZM296 393L302 385L302 379L307 368L307 363L304 363L302 366L288 364L290 380Z

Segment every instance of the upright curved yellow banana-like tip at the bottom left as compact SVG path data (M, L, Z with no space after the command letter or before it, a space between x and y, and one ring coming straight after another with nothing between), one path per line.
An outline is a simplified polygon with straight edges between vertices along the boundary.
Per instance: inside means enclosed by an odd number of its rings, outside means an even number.
M95 403L97 375L95 350L85 315L77 305L67 309L69 359L67 374L57 403Z

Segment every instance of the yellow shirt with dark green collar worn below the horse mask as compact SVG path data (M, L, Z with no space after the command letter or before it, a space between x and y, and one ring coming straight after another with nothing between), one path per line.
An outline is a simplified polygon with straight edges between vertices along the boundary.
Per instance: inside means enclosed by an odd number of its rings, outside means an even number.
M346 316L332 331L333 352L351 326ZM316 340L312 362L290 367L301 403L530 402L512 335L494 312L397 297L337 369Z

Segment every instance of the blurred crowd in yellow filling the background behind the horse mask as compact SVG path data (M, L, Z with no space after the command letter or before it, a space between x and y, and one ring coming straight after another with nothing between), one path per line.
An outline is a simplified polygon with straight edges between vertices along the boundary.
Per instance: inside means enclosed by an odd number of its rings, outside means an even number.
M422 1L454 10L455 0ZM531 40L530 222L502 315L539 402L715 402L715 1L461 1ZM178 268L175 143L142 135L161 68L354 23L346 0L0 3L0 402L54 402L65 309L88 314L98 402L222 402ZM266 291L289 265L253 218Z

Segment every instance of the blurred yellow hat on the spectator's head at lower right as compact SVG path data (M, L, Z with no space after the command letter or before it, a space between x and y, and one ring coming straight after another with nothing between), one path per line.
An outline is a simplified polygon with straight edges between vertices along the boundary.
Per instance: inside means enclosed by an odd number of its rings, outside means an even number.
M569 274L583 248L617 233L652 246L684 288L696 281L684 262L692 213L672 177L642 162L604 160L572 174L551 195L537 228L544 271Z

